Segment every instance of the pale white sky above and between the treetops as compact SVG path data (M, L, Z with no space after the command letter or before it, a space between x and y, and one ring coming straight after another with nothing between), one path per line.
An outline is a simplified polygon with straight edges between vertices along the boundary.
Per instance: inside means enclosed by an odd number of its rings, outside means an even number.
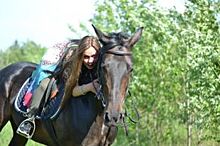
M11 46L15 40L34 41L43 47L76 36L68 25L76 30L80 22L93 32L91 19L96 0L0 0L0 50ZM184 0L158 0L164 7L175 5L184 8Z

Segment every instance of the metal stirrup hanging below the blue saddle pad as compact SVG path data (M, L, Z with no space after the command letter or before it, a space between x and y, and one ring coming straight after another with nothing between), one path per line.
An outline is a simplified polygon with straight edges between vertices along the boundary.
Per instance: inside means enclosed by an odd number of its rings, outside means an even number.
M29 139L34 135L35 128L35 117L31 117L21 122L16 132Z

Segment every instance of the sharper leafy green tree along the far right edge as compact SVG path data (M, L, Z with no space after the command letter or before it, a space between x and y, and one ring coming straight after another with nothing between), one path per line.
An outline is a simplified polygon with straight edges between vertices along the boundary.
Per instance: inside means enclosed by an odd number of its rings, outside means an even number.
M218 6L217 6L218 5ZM187 47L187 98L193 124L201 131L200 140L219 141L220 112L220 29L216 15L219 2L192 1L185 14L187 29L182 31Z

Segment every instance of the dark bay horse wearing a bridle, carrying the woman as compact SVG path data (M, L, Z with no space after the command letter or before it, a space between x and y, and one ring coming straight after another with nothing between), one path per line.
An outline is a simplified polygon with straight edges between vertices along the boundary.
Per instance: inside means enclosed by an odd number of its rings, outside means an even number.
M65 146L107 146L114 142L117 126L124 118L123 105L132 72L132 48L143 28L128 36L121 32L106 34L93 27L102 43L98 61L99 95L97 98L69 98L56 118L50 120L50 130L41 119L36 119L32 140ZM24 117L15 110L14 102L19 89L35 69L34 63L18 62L0 70L0 131L10 121L13 129L10 146L23 146L28 141L16 133Z

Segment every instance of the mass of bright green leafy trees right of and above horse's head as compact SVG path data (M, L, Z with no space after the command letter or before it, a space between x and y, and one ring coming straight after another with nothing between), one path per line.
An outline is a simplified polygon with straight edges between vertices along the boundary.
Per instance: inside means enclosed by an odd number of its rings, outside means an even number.
M184 13L150 0L98 4L93 23L105 32L131 34L144 26L133 49L130 90L137 100L128 99L137 102L141 119L116 145L187 145L188 124L192 144L219 140L219 8L219 1L208 0L187 2Z

